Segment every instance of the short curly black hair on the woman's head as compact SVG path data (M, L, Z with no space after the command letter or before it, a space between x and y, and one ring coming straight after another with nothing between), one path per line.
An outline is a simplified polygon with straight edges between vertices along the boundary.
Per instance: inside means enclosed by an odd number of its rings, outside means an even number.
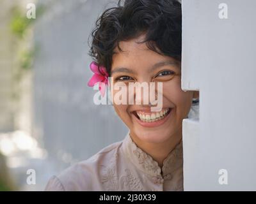
M114 49L120 41L145 34L147 47L181 61L181 4L177 0L119 0L97 19L89 43L89 55L111 73ZM89 40L90 40L89 38ZM89 41L88 41L89 42Z

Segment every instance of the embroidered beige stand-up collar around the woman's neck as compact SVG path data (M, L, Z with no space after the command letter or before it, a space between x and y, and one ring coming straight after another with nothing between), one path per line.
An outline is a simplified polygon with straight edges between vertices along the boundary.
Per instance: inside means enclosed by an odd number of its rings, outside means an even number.
M182 140L164 159L162 169L157 161L132 141L130 132L125 136L122 146L125 156L127 156L137 168L152 177L165 179L171 177L173 171L178 168L183 168ZM163 175L161 175L161 171L163 171Z

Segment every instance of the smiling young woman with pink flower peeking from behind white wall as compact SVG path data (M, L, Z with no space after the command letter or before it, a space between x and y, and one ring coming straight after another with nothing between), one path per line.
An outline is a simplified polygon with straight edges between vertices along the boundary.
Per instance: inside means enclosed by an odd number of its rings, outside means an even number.
M182 120L199 93L181 89L181 21L180 3L174 0L118 1L102 13L92 32L95 75L89 85L106 84L108 77L124 86L161 82L163 108L152 112L150 103L114 102L129 128L124 140L52 177L45 190L183 190Z

